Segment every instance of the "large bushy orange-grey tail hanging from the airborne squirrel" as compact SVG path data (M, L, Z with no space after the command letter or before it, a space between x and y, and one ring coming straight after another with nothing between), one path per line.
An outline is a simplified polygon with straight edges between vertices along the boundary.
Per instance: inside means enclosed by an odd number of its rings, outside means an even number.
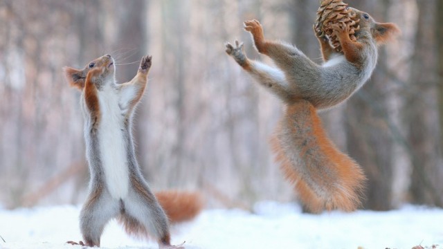
M329 140L308 101L288 104L271 146L286 178L311 212L350 212L361 205L363 170Z

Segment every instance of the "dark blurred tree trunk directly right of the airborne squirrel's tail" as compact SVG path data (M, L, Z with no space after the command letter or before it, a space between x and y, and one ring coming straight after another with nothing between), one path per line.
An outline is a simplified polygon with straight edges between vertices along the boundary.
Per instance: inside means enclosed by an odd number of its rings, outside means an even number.
M350 5L372 14L374 19L388 19L390 1L355 1ZM374 8L377 6L377 8ZM377 12L376 10L383 10ZM380 15L377 15L380 14ZM386 93L386 53L379 50L379 66L361 90L348 102L347 149L364 169L368 178L364 208L392 208L392 136L388 129L388 93Z

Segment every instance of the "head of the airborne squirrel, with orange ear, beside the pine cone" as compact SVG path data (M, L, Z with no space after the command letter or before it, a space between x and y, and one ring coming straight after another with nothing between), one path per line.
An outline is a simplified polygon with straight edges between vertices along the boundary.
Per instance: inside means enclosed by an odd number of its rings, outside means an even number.
M355 33L357 39L371 37L377 45L381 45L394 39L400 33L400 29L395 24L378 23L368 13L355 8L351 9L360 19L360 30Z

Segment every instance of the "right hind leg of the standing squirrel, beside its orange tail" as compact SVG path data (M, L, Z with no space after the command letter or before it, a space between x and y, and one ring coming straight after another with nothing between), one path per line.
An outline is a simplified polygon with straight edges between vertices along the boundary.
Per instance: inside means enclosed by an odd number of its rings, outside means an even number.
M129 234L150 235L161 248L170 246L168 217L142 178L132 177L132 190L123 202L119 221Z

